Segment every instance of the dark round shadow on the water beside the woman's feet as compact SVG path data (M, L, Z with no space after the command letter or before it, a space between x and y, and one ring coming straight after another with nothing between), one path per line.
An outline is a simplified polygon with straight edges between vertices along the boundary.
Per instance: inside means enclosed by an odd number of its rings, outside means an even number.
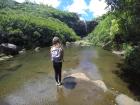
M76 78L74 77L66 77L63 79L63 86L67 89L74 89L76 87L76 81L75 81Z

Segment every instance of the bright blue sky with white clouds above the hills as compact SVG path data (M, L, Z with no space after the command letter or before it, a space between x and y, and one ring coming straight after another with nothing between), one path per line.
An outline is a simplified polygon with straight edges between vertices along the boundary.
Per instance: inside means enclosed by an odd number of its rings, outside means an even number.
M15 0L24 2L25 0ZM102 16L107 12L105 0L29 0L37 4L45 4L54 8L75 12L79 14L81 20L92 20Z

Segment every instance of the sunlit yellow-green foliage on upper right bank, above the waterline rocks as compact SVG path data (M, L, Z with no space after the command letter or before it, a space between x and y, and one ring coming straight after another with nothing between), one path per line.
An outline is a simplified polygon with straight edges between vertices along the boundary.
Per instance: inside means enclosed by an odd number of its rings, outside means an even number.
M125 1L123 9L120 10L119 8L122 7L116 7L115 11L110 11L99 18L98 26L90 34L93 43L99 46L107 45L117 50L123 48L123 43L132 43L133 46L139 44L140 25L138 19L140 19L140 14L136 12L138 11L134 7L136 4L134 2L131 4L131 2Z

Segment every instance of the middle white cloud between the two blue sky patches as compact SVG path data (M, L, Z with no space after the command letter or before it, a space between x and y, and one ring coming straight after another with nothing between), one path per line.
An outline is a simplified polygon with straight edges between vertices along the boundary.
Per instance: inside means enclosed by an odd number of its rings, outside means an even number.
M66 10L69 12L75 12L78 14L86 14L85 10L87 10L88 7L84 0L73 0L73 3L66 7Z

